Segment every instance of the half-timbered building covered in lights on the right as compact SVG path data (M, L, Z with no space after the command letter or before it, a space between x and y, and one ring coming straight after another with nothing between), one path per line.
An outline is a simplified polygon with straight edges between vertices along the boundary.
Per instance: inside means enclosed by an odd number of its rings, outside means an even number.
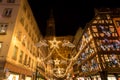
M119 8L95 9L77 49L77 73L86 80L120 79Z

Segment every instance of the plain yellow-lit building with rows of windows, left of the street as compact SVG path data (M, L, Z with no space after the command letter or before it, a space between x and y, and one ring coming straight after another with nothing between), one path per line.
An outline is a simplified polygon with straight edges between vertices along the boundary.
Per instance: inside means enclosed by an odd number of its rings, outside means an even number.
M35 79L40 37L27 0L0 0L0 79Z

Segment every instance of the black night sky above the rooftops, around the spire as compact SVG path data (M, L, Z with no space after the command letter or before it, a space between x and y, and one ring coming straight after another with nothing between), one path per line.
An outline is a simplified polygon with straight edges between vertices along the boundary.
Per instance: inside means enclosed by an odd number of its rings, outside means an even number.
M84 28L94 17L95 8L120 7L110 0L28 0L41 33L45 36L46 21L53 9L56 36L75 35L79 27Z

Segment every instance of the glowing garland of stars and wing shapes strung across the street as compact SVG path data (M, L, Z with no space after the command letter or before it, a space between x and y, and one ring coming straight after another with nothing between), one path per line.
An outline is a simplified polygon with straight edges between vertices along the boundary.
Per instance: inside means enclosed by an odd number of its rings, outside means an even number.
M48 40L48 42L50 44L48 44L46 40L42 40L36 45L37 47L42 47L42 46L49 47L49 50L48 50L48 51L50 51L49 54L46 57L41 58L40 61L43 62L45 60L49 60L49 58L54 54L54 51L55 51L56 52L55 54L58 55L59 57L61 57L61 59L64 61L64 63L67 64L67 67L66 67L66 69L61 68L59 66L57 68L55 67L55 68L53 68L51 74L53 74L55 77L64 77L65 75L67 75L68 71L70 70L72 63L79 56L80 50L83 49L83 44L81 44L79 51L76 53L76 55L74 57L66 58L59 52L59 49L60 49L59 44L62 43L62 47L66 46L69 48L75 48L75 45L73 43L69 42L68 40L64 40L63 42L58 41L58 40L56 40L55 37L53 38L53 40ZM55 65L59 65L60 61L62 61L62 60L59 60L58 58L56 58L55 60L52 60L52 61L50 59L48 62L49 63L54 62ZM65 61L69 61L69 63L65 62Z

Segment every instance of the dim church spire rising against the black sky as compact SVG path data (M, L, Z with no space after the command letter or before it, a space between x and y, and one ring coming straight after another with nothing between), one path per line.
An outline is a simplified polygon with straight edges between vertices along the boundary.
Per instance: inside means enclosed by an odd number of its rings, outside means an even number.
M47 20L47 29L46 29L46 37L54 37L55 36L55 20L53 17L53 10L50 10L50 17Z

